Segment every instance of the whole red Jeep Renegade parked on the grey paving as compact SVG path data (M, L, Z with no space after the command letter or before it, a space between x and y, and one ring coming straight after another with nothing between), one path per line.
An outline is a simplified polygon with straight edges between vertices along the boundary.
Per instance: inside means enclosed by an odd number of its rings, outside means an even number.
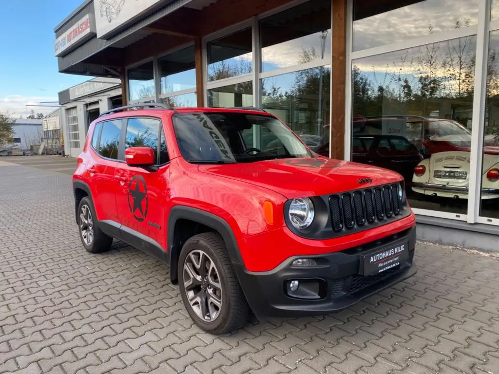
M169 264L190 316L212 334L251 312L327 314L417 271L402 177L321 157L260 109L102 113L73 189L85 249L117 238Z

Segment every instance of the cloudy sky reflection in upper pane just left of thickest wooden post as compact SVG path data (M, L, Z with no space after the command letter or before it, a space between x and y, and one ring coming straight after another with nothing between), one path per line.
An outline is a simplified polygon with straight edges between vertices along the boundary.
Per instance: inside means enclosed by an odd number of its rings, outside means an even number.
M302 36L282 43L269 45L261 49L261 71L270 71L299 63L321 59L322 47L324 58L331 56L331 31L326 38L321 32ZM304 58L304 51L313 51L309 58Z

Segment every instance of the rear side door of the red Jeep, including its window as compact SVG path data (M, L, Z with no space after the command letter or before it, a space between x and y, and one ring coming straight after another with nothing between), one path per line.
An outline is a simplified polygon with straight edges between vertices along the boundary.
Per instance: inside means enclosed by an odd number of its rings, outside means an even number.
M92 163L87 171L90 173L91 192L95 213L99 221L107 221L118 227L118 212L116 209L116 193L118 184L115 180L115 170L124 164L119 157L119 142L123 120L104 121L96 125L100 130L98 139L92 140ZM94 133L95 134L95 133ZM94 142L95 140L95 142Z

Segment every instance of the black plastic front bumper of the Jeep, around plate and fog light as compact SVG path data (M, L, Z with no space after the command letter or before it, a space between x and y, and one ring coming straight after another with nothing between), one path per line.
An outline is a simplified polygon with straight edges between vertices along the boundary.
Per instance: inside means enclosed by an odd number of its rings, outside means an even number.
M408 242L409 258L397 267L372 276L359 275L362 254ZM323 315L353 305L360 300L388 288L417 272L413 263L416 247L416 225L394 235L344 251L294 256L277 268L266 272L250 272L235 264L243 292L253 313L259 320L268 317L299 317ZM296 258L313 258L317 265L307 268L291 267ZM319 283L319 299L303 299L288 295L291 279Z

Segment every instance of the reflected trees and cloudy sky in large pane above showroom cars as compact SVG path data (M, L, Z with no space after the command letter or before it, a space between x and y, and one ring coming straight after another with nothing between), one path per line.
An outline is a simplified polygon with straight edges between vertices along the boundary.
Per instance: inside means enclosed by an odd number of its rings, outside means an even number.
M457 21L456 28L469 23ZM432 33L431 25L429 30ZM440 109L443 100L471 109L475 41L476 35L465 36L355 61L354 116L428 116Z

